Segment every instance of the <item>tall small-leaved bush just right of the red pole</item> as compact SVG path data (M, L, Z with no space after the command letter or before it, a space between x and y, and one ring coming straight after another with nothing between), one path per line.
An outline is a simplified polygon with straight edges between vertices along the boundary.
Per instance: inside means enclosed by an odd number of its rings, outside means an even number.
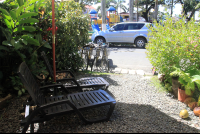
M88 43L89 16L83 15L80 4L73 0L61 2L58 9L56 67L59 70L70 68L77 71L82 66L78 50Z

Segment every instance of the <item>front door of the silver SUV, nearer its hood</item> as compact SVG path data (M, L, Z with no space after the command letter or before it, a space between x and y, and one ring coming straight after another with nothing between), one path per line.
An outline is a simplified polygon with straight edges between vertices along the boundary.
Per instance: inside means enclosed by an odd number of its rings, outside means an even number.
M106 41L107 42L123 42L123 29L124 24L117 24L112 27L113 31L108 30L105 33Z

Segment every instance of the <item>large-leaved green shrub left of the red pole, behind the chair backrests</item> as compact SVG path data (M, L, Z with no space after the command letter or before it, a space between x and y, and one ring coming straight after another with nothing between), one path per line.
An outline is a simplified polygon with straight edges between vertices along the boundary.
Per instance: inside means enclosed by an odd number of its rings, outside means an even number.
M0 44L0 87L5 94L22 87L16 74L22 61L30 66L34 75L47 73L44 71L44 64L38 60L41 49L51 49L48 42L42 40L42 30L38 26L39 7L44 5L43 2L44 0L37 3L35 0L7 0L0 5L0 29L4 36L1 37ZM18 90L18 95L21 93Z

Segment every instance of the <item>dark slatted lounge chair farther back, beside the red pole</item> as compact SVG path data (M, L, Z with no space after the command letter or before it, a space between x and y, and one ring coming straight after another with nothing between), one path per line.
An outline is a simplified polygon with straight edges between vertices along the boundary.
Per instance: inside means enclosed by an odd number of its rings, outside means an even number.
M51 77L51 79L53 80L53 70L49 64L49 61L44 51L41 52L41 56L49 72L49 76L47 77L47 79ZM56 79L57 82L63 83L66 88L78 87L81 90L82 88L95 89L99 87L101 89L107 90L109 87L109 83L102 77L84 77L76 80L75 75L70 70L56 71L56 74L58 73L69 73L71 75L71 78Z

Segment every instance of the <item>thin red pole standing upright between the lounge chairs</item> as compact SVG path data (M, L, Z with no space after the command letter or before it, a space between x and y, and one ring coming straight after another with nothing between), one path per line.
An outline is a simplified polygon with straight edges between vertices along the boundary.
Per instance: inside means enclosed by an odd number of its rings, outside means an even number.
M56 82L56 62L55 62L55 7L54 0L52 0L52 50L53 50L53 78L54 82Z

